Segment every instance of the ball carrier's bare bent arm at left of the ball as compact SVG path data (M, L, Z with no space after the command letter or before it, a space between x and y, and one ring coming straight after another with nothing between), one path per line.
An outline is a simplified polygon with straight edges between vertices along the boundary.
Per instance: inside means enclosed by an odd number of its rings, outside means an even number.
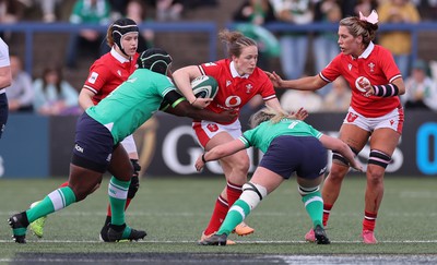
M191 105L194 101L199 100L192 93L191 80L199 77L200 75L202 75L202 73L200 72L197 65L185 67L176 70L173 73L173 80L176 86L179 88L179 91L187 98L188 103L190 103Z

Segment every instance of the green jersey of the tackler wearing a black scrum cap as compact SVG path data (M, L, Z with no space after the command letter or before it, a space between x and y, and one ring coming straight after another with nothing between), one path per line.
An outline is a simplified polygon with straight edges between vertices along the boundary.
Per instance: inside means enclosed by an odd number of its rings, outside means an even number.
M87 108L86 113L105 125L117 144L149 120L165 95L175 89L167 76L138 69L96 106Z

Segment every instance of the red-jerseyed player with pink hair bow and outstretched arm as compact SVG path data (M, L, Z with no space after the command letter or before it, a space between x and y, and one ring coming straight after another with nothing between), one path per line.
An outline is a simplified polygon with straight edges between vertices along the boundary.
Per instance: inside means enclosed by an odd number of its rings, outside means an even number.
M349 112L340 129L340 138L358 154L369 141L367 186L362 238L366 244L375 244L376 218L383 195L383 176L399 143L404 120L399 95L405 93L401 72L389 50L375 45L378 14L343 19L339 26L341 53L315 76L282 80L276 73L268 73L275 87L316 91L342 75L350 84L352 99ZM370 137L371 136L371 137ZM323 225L340 195L341 184L350 169L343 156L333 153L332 167L324 180ZM314 231L306 234L314 241Z

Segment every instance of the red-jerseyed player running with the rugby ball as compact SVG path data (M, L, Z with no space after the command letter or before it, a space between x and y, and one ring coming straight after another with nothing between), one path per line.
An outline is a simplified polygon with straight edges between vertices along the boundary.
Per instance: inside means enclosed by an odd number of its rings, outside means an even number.
M229 58L200 65L185 67L174 72L175 83L187 100L194 107L205 108L214 112L234 110L239 113L243 106L253 96L261 95L267 106L282 110L271 81L257 67L257 43L239 32L222 31L218 33L218 37L227 45ZM213 99L194 97L190 82L200 75L210 75L217 81L220 89ZM302 119L307 116L305 110L296 115L300 116ZM193 120L192 128L199 143L205 150L241 135L238 116L228 123ZM229 205L233 205L239 197L243 193L241 188L247 182L249 156L246 150L221 158L220 164L227 184L215 202L213 214L201 240L218 230ZM238 236L246 236L252 233L253 229L246 224L240 224L236 227L235 232ZM227 244L232 243L234 242L228 240Z

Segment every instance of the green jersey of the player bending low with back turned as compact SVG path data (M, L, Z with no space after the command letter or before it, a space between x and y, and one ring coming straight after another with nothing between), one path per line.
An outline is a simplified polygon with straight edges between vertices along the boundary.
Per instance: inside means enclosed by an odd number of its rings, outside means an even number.
M255 146L265 153L270 143L275 137L282 135L314 136L320 138L323 134L304 121L282 119L277 123L264 121L258 127L244 132L239 140L246 147Z

